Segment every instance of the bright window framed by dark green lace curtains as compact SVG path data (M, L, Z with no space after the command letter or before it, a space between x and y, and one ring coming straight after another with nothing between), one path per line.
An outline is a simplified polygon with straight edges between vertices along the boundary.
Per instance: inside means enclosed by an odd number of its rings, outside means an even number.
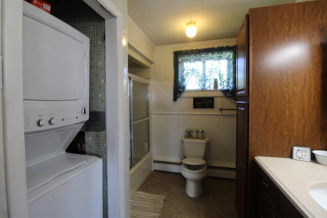
M236 46L174 52L174 101L184 90L218 89L235 98Z

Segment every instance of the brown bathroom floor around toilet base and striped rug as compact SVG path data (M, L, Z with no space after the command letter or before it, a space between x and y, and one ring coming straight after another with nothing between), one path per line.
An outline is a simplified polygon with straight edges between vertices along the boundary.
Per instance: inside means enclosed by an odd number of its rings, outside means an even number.
M235 180L208 177L203 193L190 198L181 174L154 171L138 190L165 195L160 218L238 217L235 207Z

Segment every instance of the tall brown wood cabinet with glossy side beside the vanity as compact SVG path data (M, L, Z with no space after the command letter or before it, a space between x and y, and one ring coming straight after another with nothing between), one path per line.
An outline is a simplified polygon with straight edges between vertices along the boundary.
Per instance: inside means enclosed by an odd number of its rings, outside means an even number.
M236 206L255 217L255 156L327 150L327 1L250 9L237 37ZM253 187L254 186L254 187ZM253 188L252 188L253 187Z

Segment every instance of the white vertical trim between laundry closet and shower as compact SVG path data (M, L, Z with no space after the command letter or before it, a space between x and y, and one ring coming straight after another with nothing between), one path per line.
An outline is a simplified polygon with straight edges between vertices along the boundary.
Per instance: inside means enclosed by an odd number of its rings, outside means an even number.
M129 155L127 112L127 22L106 19L106 144L108 216L129 217ZM109 40L110 39L110 40Z

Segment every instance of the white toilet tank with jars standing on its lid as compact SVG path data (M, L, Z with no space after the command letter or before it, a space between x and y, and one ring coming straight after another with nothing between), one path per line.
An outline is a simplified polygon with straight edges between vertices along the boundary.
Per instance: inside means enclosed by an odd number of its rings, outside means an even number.
M182 149L185 157L206 159L209 152L210 139L182 137Z

